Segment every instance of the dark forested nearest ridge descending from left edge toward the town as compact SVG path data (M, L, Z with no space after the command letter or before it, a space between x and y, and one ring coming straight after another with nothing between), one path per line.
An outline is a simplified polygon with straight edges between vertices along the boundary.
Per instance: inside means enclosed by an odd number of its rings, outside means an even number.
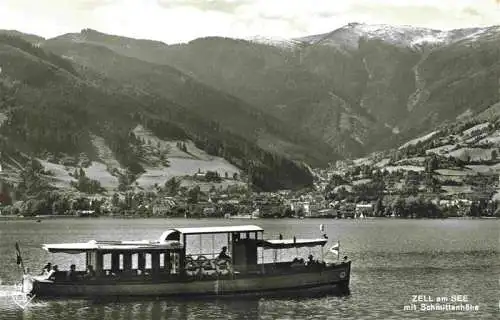
M43 55L45 51L30 47L27 52L16 47L18 40L1 40L0 56L2 61L9 61L0 74L0 111L7 118L0 127L5 157L22 159L23 154L45 154L60 159L64 154L78 156L83 152L90 160L96 159L95 147L90 143L90 135L96 134L105 139L119 162L137 178L144 172L144 146L131 132L138 123L145 123L160 137L193 139L197 147L221 154L242 169L252 166L251 182L264 190L311 182L308 170L298 163L272 155L165 98L144 92L118 92L109 86L101 88L109 80L94 78L94 72L80 73L81 65L76 65L78 77L74 78L44 60L53 57ZM162 115L165 111L167 114Z

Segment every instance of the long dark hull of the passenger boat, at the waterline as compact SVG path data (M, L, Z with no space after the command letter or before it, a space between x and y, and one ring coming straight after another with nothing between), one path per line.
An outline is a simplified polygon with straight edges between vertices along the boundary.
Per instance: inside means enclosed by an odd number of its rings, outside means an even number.
M57 283L33 280L31 293L37 297L236 297L308 296L349 292L350 262L317 272L235 276L226 279L164 282Z

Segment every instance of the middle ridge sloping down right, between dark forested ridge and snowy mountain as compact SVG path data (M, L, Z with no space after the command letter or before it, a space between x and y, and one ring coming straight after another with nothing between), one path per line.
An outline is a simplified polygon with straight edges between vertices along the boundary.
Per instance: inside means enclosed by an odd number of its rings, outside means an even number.
M247 102L213 89L210 84L201 83L175 68L123 56L91 42L73 40L73 36L66 35L48 40L43 46L107 80L186 107L203 119L217 122L221 128L252 140L265 150L312 165L324 165L336 157L328 151L326 144L312 139L306 132L296 130ZM83 70L80 73L95 78L93 73L89 75Z

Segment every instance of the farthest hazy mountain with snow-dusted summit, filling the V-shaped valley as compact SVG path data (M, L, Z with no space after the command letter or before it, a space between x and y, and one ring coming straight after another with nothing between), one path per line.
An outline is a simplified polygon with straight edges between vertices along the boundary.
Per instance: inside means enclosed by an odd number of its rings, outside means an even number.
M63 36L174 66L344 156L393 147L498 100L498 27L350 24L285 41L209 37L165 45L94 30Z

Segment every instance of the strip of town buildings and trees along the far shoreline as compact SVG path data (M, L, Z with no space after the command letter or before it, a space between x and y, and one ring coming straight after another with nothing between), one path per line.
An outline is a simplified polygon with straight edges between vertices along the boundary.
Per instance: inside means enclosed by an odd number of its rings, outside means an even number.
M429 158L432 170L434 158ZM314 171L314 185L302 190L253 192L244 176L198 171L192 176L173 177L152 190L119 188L103 192L98 182L75 170L75 188L43 190L37 174L50 174L33 162L29 186L15 190L2 185L2 217L110 216L186 218L447 218L499 217L492 194L498 175L474 177L472 193L446 195L435 179L424 172L378 170L366 164L338 161L329 169ZM29 172L29 170L28 170ZM185 185L190 181L190 187ZM37 197L15 200L22 188L40 188ZM46 186L45 186L46 187ZM7 191L7 192L6 192ZM34 190L25 190L30 194ZM441 190L442 191L442 190Z

